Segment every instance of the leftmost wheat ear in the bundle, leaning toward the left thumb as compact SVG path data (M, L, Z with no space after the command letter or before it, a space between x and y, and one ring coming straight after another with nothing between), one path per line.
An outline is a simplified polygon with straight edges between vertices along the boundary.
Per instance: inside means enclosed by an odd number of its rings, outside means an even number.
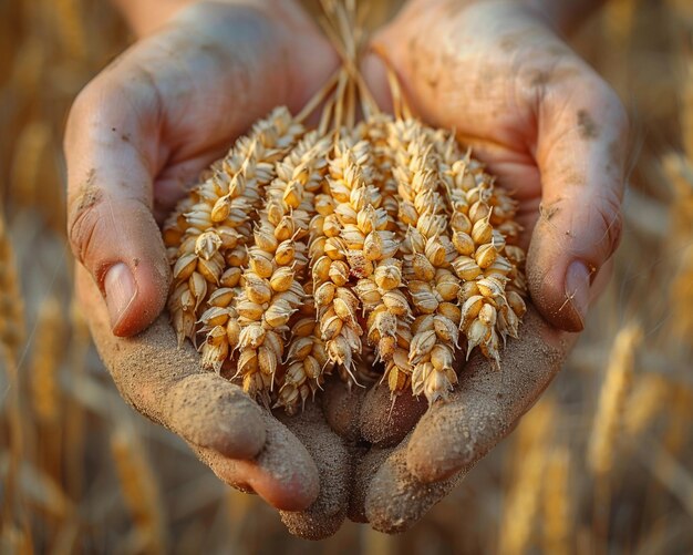
M218 286L238 285L239 268L248 263L247 238L252 235L247 216L261 204L261 191L276 175L275 163L302 133L286 109L276 109L213 165L166 220L164 243L174 261L168 309L179 343L185 338L195 341L196 311L207 296ZM223 271L226 265L229 268ZM227 349L234 347L226 342ZM209 366L218 366L214 356L207 359Z

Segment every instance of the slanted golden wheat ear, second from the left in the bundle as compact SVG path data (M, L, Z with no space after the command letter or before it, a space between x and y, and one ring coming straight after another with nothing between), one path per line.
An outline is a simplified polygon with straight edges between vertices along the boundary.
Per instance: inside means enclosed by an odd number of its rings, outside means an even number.
M308 265L312 196L327 169L328 147L329 141L317 132L307 134L277 164L277 177L267 188L236 305L240 325L237 374L252 395L273 388L289 321L304 299L297 274L301 276Z

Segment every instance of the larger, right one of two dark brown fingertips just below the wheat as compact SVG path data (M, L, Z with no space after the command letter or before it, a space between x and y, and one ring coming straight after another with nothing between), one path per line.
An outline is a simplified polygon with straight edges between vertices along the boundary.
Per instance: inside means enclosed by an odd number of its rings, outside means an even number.
M386 386L374 386L365 394L359 415L361 436L376 446L400 443L416 425L428 403L404 391L392 397Z

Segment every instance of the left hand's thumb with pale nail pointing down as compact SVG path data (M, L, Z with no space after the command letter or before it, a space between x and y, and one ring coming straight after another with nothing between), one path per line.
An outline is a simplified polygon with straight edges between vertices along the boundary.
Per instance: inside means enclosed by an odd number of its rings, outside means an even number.
M149 83L102 74L77 96L65 133L70 244L99 285L117 336L152 323L169 284L152 214L161 111Z

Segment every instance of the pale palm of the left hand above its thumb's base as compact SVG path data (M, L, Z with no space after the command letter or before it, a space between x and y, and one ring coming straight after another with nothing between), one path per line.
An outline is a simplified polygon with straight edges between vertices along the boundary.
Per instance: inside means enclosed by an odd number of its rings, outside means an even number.
M201 3L139 47L135 71L148 96L144 132L159 138L158 215L239 132L276 105L297 112L333 71L337 58L324 39L292 28L299 22L290 7L277 10L288 13L269 19L258 10ZM287 63L287 50L293 63ZM310 63L302 63L309 52Z

